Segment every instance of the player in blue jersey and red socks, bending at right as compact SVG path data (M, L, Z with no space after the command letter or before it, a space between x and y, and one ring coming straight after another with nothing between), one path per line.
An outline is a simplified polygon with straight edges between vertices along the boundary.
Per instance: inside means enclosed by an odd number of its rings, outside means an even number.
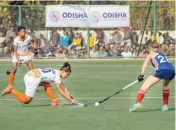
M139 92L137 93L136 104L134 104L129 112L137 111L142 108L141 102L145 96L146 91L152 87L154 84L163 80L163 106L162 111L168 111L168 100L170 89L168 87L170 81L175 77L175 68L169 62L168 58L161 52L158 52L159 44L153 41L149 44L150 53L147 55L143 65L141 74L138 76L138 81L144 80L144 72L147 68L149 62L151 62L154 67L154 72L143 83Z

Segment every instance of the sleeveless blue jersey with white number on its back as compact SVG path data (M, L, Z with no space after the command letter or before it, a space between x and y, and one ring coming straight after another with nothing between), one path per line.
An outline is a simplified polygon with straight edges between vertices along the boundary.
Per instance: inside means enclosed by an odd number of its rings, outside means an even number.
M156 70L173 70L175 71L174 66L170 63L167 56L161 52L151 59L151 64Z

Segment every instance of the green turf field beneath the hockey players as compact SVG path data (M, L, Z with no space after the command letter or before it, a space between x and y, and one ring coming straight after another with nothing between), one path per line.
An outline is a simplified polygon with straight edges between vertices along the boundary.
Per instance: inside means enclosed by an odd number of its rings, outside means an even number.
M63 62L34 62L36 67L58 68ZM81 102L94 103L116 90L136 80L142 61L72 61L73 72L65 80L68 90ZM6 70L10 62L0 64L0 91L7 86ZM22 67L17 72L15 88L24 92L23 76L27 72ZM152 72L147 69L146 75ZM175 123L175 83L172 81L168 112L161 112L161 82L151 88L143 101L140 112L129 113L135 103L136 93L142 83L108 100L99 107L86 108L63 106L50 108L43 88L37 92L29 105L18 103L12 96L0 98L0 130L174 130ZM55 94L55 86L53 84ZM13 100L12 100L13 99ZM62 103L67 103L61 100Z

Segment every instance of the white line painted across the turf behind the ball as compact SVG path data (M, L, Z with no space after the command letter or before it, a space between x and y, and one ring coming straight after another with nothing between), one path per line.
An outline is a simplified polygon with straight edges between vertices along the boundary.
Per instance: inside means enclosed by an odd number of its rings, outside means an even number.
M79 100L97 100L97 99L103 99L104 97L79 97L76 99ZM112 97L111 99L134 99L136 97ZM175 99L176 97L171 96L169 97L170 99ZM60 98L61 100L63 100L63 98ZM162 97L145 97L145 99L162 99ZM4 98L4 99L0 99L0 101L13 101L16 99L13 98ZM34 100L49 100L49 98L34 98Z

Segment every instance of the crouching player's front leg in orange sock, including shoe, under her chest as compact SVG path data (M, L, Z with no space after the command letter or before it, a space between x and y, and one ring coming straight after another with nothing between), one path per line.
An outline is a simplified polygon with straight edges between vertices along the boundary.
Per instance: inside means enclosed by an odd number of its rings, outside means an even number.
M42 85L42 84L40 84L40 85ZM62 106L62 105L59 103L59 100L57 99L57 97L55 96L51 85L48 83L48 84L44 84L43 86L44 86L46 95L51 99L51 102L52 102L52 103L51 103L51 106L53 106L53 107Z

